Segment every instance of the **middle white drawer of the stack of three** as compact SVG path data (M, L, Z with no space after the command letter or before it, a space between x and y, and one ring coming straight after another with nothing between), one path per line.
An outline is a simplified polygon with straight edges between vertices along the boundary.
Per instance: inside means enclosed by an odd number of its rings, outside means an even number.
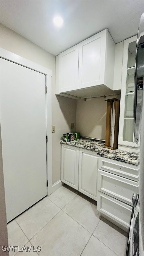
M98 170L98 181L98 191L133 205L131 199L134 192L138 194L138 182L101 170Z

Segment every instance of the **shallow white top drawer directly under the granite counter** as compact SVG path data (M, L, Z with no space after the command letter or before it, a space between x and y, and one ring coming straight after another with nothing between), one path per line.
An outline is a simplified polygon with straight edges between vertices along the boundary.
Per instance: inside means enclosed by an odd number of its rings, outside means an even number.
M139 167L137 165L123 163L109 158L99 158L99 169L110 172L130 180L139 180Z

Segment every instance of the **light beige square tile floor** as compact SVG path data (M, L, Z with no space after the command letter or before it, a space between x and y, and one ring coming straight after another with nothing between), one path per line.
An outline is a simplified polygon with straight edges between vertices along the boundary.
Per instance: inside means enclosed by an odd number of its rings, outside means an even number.
M8 224L9 245L41 246L10 256L125 256L127 234L101 218L96 202L61 187Z

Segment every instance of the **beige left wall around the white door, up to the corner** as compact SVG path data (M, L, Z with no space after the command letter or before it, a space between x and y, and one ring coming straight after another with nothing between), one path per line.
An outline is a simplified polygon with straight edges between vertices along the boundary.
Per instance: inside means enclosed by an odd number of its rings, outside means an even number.
M55 56L30 42L13 30L0 24L0 47L52 70L52 180L61 179L61 147L63 133L70 132L70 123L76 123L76 100L55 96Z

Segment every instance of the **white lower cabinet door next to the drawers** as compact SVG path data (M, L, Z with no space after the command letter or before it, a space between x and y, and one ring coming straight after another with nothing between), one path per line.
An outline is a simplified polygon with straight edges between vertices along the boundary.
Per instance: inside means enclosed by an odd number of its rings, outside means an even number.
M95 152L79 150L79 191L97 200L98 156Z

